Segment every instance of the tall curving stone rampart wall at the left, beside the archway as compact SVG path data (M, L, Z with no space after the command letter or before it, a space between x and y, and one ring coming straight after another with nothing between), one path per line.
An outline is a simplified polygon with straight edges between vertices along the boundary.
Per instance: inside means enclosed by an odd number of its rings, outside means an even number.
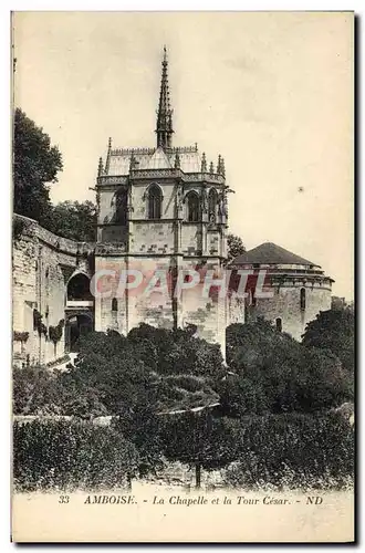
M14 363L46 364L64 354L63 331L54 346L33 327L33 312L49 328L65 319L66 284L75 271L91 274L93 244L60 238L25 217L14 216L21 227L12 249L13 331L29 333L27 342L13 341Z

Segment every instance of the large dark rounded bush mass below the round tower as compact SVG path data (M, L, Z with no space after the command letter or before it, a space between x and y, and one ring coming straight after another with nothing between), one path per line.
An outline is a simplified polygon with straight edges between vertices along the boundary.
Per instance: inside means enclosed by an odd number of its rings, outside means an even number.
M352 379L327 349L304 347L269 322L227 328L231 373L218 387L225 413L312 413L353 398Z

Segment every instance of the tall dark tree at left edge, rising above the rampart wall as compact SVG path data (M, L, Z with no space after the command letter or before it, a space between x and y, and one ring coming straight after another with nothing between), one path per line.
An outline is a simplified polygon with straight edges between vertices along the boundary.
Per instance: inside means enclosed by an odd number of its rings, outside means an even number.
M49 222L50 184L58 181L62 156L41 127L17 107L13 136L13 209L17 213Z

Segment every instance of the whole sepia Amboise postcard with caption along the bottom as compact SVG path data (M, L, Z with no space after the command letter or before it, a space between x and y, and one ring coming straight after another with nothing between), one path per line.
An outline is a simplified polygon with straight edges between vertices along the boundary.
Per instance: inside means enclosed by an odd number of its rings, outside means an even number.
M12 13L14 542L354 542L354 13Z

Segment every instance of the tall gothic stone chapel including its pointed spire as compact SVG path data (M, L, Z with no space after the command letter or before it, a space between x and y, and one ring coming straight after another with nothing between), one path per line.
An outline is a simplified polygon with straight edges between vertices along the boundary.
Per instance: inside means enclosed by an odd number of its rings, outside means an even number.
M225 351L226 299L202 284L174 293L179 274L199 268L220 272L227 253L227 190L225 160L209 169L198 146L173 146L173 109L166 48L156 122L156 146L113 148L100 159L96 182L98 221L95 272L143 273L134 290L95 299L95 330L123 334L142 322L154 326L195 324L198 335ZM165 271L167 290L146 295L152 274ZM189 281L189 276L185 276ZM121 282L121 280L119 280ZM128 281L131 282L131 281Z

